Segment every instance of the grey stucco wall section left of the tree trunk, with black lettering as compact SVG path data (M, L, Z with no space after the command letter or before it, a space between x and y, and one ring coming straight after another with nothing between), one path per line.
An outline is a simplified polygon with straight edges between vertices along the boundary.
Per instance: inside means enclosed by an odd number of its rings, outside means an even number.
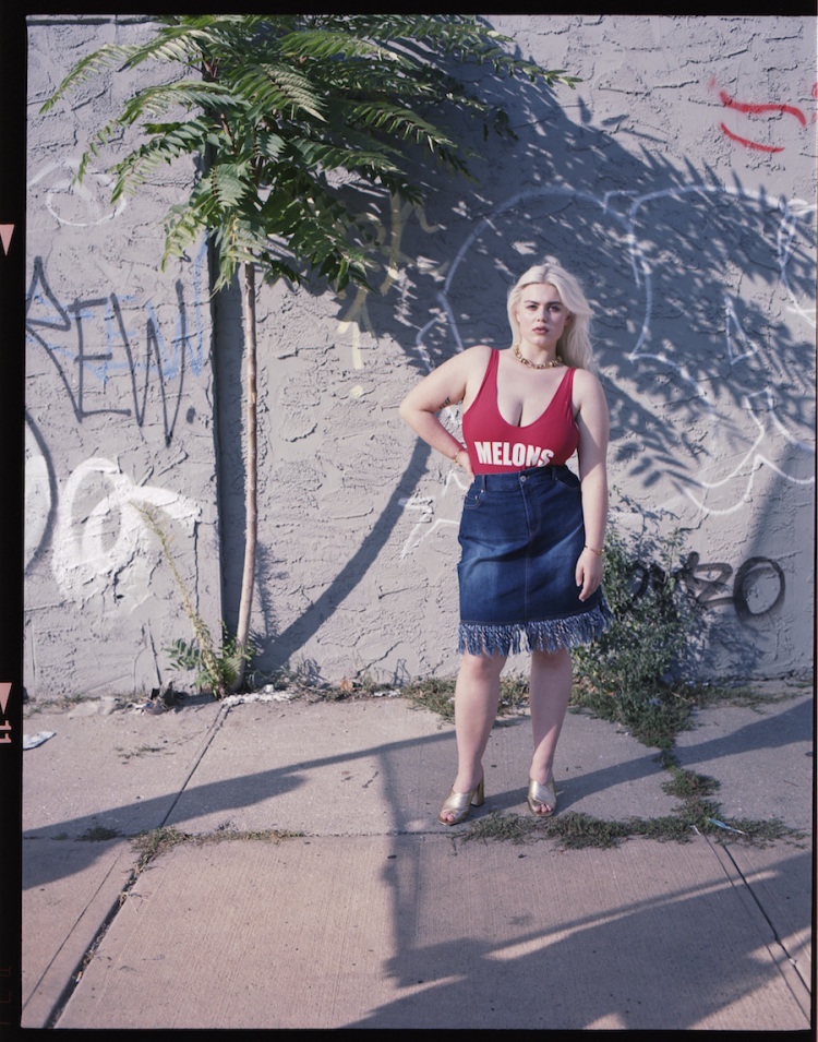
M145 29L128 20L29 24L25 684L35 698L149 691L169 679L163 649L191 628L140 507L158 511L218 635L206 256L159 271L163 217L190 171L168 169L116 207L101 168L71 187L91 131L133 87L124 77L91 81L39 115L83 55ZM137 82L148 75L156 70Z

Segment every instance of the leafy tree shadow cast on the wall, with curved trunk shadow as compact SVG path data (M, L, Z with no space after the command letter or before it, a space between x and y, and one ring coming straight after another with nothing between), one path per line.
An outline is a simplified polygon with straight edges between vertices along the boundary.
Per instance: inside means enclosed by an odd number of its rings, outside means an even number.
M480 154L477 182L425 177L428 202L399 229L381 201L373 285L384 289L368 298L369 332L401 345L419 378L472 344L506 347L508 289L555 256L592 302L611 463L633 494L673 503L694 524L702 508L736 508L759 452L785 479L811 481L815 207L737 178L723 184L689 160L681 169L643 147L629 152L591 124L581 101L572 119L562 104L577 96L566 88L497 77L485 86L517 139L483 141L480 128L462 127ZM310 288L326 291L321 280ZM348 309L339 301L339 321ZM416 450L354 558L270 638L263 660L288 661L365 575L428 458ZM237 462L231 524L243 517ZM225 575L226 602L238 603L236 548ZM272 633L269 615L265 623Z

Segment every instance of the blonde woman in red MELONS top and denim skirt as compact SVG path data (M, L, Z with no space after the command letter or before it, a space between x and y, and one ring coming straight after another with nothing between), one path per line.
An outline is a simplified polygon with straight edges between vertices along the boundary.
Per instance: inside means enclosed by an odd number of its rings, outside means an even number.
M600 584L608 518L609 415L591 372L590 308L554 263L508 295L510 348L479 345L444 362L400 406L401 418L471 479L460 520L458 768L438 821L483 802L482 757L507 656L531 651L533 756L528 805L556 810L553 762L572 687L569 648L611 618ZM462 445L437 419L462 404ZM579 478L566 466L577 451Z

